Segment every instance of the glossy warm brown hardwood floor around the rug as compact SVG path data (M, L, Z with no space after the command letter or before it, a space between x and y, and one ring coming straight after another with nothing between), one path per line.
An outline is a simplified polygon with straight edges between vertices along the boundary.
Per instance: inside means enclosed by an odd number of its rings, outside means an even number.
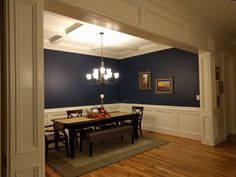
M169 144L127 160L95 170L81 177L236 177L236 136L217 147L198 141L144 132ZM46 177L61 177L46 165Z

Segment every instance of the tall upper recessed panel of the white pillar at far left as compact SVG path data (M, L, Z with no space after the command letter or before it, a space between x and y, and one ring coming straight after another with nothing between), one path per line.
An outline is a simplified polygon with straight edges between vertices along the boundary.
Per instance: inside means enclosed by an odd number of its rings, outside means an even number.
M35 24L37 21L34 2L19 1L19 23L16 23L16 35L19 49L16 50L16 153L21 154L38 150L37 141L37 85L36 68L37 53L33 50L36 46L34 39ZM24 20L23 20L24 19ZM18 32L21 31L21 35ZM25 39L27 42L25 41ZM22 52L27 51L27 52ZM31 111L30 111L31 110ZM26 124L27 123L27 124ZM31 132L28 134L28 132ZM25 136L28 134L27 138Z

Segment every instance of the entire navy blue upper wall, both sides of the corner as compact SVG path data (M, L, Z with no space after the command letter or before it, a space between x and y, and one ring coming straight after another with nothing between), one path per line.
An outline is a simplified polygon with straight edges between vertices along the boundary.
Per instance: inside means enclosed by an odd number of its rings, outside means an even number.
M120 72L115 85L90 85L86 73L100 65L100 57L54 50L44 50L45 108L100 103L140 103L199 107L198 55L179 49L168 49L124 60L105 58L105 66ZM138 73L150 70L151 90L138 88ZM157 95L155 79L173 76L174 94Z

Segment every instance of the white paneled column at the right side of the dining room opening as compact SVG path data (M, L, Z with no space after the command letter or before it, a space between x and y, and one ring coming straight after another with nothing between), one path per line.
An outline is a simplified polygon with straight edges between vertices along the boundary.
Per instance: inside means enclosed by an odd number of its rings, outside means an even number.
M209 52L199 54L201 143L214 145L214 58Z

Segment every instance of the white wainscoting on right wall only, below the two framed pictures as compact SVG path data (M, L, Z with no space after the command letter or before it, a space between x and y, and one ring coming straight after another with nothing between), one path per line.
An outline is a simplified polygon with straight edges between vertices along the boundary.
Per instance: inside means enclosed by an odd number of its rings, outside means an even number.
M130 111L132 105L144 106L144 130L200 140L200 108L142 104L120 104Z

